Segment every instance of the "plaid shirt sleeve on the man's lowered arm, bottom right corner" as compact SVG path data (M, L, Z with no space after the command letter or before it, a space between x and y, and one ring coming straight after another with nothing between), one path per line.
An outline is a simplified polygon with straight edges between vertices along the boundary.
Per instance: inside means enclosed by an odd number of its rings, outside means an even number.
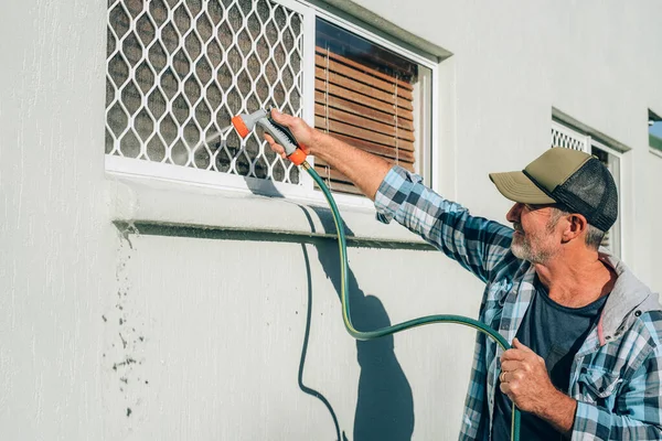
M652 324L660 326L662 314ZM573 440L662 440L662 351L656 342L623 386L613 410L578 401Z

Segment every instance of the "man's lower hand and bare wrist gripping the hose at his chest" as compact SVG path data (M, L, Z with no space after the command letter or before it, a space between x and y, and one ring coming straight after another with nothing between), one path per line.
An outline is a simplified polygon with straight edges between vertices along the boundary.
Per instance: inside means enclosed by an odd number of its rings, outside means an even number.
M558 391L547 374L545 361L517 338L501 356L501 391L520 410L547 420L562 433L573 429L577 401Z

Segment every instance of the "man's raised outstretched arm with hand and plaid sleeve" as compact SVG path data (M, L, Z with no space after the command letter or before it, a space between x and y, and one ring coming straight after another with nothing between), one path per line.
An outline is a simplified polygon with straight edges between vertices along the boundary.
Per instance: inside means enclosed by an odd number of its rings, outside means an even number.
M404 169L392 168L384 159L359 150L309 127L302 119L271 112L287 126L307 154L314 154L349 178L375 201L380 220L392 219L429 241L465 268L487 281L510 248L512 229L472 217L461 205L447 201ZM271 149L284 149L265 135ZM377 195L377 190L381 193Z

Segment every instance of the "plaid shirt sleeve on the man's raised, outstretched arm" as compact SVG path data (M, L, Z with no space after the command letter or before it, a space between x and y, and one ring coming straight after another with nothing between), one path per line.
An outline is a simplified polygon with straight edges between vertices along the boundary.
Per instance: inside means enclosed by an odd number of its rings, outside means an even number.
M395 219L448 257L488 281L510 254L513 230L499 223L471 216L421 183L421 178L401 166L386 174L375 195L377 219Z

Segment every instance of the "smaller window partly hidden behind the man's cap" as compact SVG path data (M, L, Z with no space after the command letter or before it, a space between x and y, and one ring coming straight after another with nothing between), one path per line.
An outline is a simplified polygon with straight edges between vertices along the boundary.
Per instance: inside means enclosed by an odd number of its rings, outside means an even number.
M616 150L616 146L610 141L598 138L590 130L579 129L562 120L552 121L552 143L551 147L564 147L567 149L580 150L597 157L611 172L619 194L619 216L609 232L605 232L602 246L609 249L615 256L621 255L621 152Z

